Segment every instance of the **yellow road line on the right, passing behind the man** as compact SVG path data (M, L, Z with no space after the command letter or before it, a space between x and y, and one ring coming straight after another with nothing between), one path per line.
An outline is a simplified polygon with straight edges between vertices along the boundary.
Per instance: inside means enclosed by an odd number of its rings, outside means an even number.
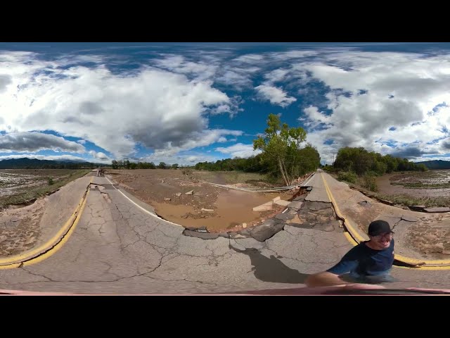
M322 176L322 180L323 180L323 184L325 185L325 189L326 189L326 193L328 194L328 198L330 199L331 203L333 203L333 206L335 208L336 211L336 215L338 215L339 218L342 218L342 220L344 220L344 226L348 231L345 232L345 237L347 237L347 239L349 240L350 243L352 243L353 245L356 245L355 243L360 243L360 242L364 242L367 239L365 239L364 237L361 236L361 234L359 234L359 232L355 229L354 225L352 225L352 223L350 222L350 220L348 218L345 218L344 215L342 215L338 204L336 203L333 194L331 194L331 191L328 187L328 184L326 183L325 178ZM409 268L409 269L420 269L420 270L450 270L450 266L446 266L446 265L450 265L450 260L449 259L442 259L442 260L420 260L420 259L416 259L416 258L409 258L409 257L405 257L405 256L401 256L398 255L397 253L394 254L395 259L399 262L402 263L406 263L406 264L411 264L411 265L415 265L415 264L424 264L424 266L418 266L418 267L399 267L399 268ZM431 265L437 265L437 266L431 266Z

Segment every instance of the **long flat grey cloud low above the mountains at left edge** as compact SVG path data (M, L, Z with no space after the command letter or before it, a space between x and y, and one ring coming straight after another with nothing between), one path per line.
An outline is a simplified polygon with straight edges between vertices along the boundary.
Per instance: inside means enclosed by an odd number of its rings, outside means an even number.
M39 151L52 149L75 153L84 152L84 146L51 134L40 132L11 132L0 135L0 151Z

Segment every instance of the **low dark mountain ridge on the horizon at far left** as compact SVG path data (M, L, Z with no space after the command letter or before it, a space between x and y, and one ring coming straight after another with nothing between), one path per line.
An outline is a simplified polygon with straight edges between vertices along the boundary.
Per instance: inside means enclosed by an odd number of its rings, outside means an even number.
M36 158L13 158L0 161L0 169L76 169L82 167L104 167L105 164L75 161L49 161Z

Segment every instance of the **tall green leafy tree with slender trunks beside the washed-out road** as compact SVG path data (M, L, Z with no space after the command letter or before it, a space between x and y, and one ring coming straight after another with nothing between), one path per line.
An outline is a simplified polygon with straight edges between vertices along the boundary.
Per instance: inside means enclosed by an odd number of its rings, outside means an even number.
M302 127L281 125L278 115L269 114L264 136L253 141L253 149L262 150L265 162L277 168L286 185L293 184L299 172L300 144L306 141L307 132Z

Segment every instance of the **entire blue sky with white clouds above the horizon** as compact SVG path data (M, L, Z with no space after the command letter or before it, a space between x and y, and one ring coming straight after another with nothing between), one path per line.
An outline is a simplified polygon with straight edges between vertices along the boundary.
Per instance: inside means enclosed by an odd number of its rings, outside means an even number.
M257 154L269 113L342 146L450 160L450 44L0 43L0 160Z

